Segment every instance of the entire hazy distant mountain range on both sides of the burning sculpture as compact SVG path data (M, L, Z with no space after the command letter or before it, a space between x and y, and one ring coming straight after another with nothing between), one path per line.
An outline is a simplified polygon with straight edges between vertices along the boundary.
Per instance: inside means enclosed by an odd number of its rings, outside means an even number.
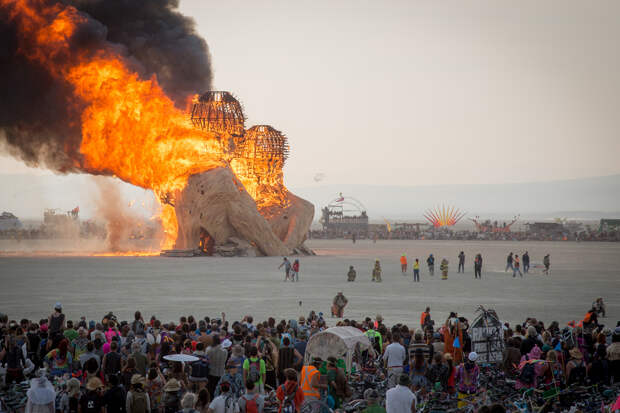
M121 183L124 200L135 201L136 212L150 216L154 197L150 191ZM503 185L389 186L329 184L290 187L295 194L314 203L315 220L320 209L339 193L359 200L371 220L421 220L424 211L450 205L485 218L522 219L620 218L620 175L565 181ZM94 216L99 199L94 178L88 175L0 175L0 212L10 211L20 219L42 219L44 208L63 211L80 206L80 214ZM144 204L145 207L139 208Z

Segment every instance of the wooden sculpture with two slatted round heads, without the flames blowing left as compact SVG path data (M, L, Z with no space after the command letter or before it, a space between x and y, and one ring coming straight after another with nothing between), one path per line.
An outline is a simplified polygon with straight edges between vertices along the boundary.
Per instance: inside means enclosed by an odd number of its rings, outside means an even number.
M245 131L241 106L228 92L202 95L191 120L218 136L227 165L191 176L175 193L175 248L191 249L200 243L205 252L224 255L307 251L303 242L314 206L284 186L286 137L268 125Z

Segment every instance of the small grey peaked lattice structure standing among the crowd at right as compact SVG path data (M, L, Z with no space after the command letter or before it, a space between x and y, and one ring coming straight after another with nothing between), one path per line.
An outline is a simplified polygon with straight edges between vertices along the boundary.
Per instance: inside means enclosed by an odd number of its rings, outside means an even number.
M471 325L471 349L479 363L501 363L504 354L504 329L495 310L480 306L480 314Z

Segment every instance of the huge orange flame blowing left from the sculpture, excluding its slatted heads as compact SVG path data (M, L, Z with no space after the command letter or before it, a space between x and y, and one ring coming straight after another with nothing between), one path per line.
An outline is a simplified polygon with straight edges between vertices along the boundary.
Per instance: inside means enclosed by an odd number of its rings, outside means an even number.
M45 0L0 0L0 5L19 27L19 52L71 85L74 96L67 104L83 108L83 159L76 167L115 175L165 199L190 175L224 165L217 137L195 129L157 79L140 79L112 45L76 55L71 40L87 16ZM167 235L162 247L169 248L177 235L172 206L162 203L161 220Z

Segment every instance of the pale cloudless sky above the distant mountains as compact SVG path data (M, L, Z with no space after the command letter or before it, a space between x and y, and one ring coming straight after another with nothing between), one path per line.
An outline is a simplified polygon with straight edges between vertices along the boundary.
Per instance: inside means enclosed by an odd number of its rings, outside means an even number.
M288 186L317 185L317 173L378 185L620 173L619 1L181 0L181 11L246 126L289 137ZM22 171L0 157L0 173Z

